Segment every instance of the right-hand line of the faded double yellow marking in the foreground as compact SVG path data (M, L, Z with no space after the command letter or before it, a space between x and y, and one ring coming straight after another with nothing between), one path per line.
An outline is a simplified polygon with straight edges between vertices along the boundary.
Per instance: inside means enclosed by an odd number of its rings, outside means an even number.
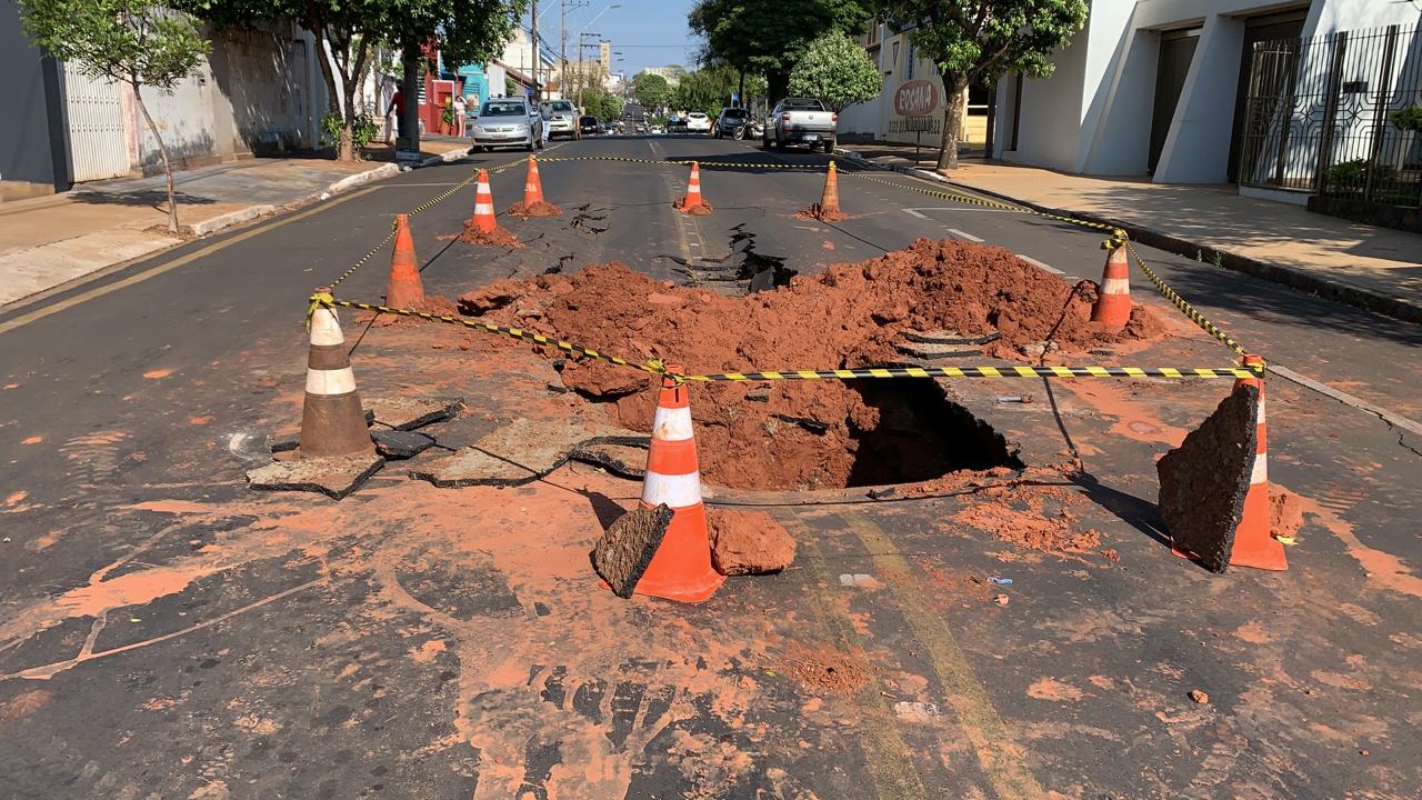
M973 666L968 665L953 632L937 614L929 611L919 591L919 581L909 569L909 562L899 552L899 547L862 514L846 512L840 514L840 518L869 551L914 639L927 651L933 672L943 685L944 699L957 713L963 732L977 752L983 774L993 783L993 790L1003 800L1041 797L1044 791L1027 769L1025 750L1008 736L1007 725L973 673Z

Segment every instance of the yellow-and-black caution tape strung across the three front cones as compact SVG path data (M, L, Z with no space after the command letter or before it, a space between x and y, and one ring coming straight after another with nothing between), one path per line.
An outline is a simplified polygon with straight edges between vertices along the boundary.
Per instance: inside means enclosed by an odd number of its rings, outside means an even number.
M493 325L489 322L476 322L454 316L432 315L425 312L417 312L414 309L392 309L390 306L378 306L374 303L357 303L353 300L337 300L331 298L328 292L317 292L310 298L311 310L317 306L340 306L346 309L358 309L365 312L377 313L391 313L398 316L408 316L415 319L422 319L427 322L442 322L445 325L458 325L461 327L469 327L474 330L482 330L485 333L493 333L498 336L508 336L510 339L518 339L520 342L529 342L532 344L542 344L546 347L556 347L565 353L572 353L577 356L586 356L590 359L597 359L600 362L607 362L611 364L630 367L634 370L641 370L651 374L664 374L674 379L677 383L697 381L697 383L714 383L714 381L766 381L766 380L860 380L860 379L924 379L924 377L1169 377L1169 379L1187 379L1187 377L1258 377L1263 373L1263 366L1258 367L1064 367L1064 366L1001 366L1001 367L856 367L848 370L784 370L784 372L731 372L731 373L712 373L712 374L683 374L668 372L665 364L657 359L648 359L647 362L637 363L619 356L610 356L600 350L592 347L583 347L582 344L573 344L563 339L550 339L542 333L533 333L530 330L523 330L519 327L509 327L506 325Z

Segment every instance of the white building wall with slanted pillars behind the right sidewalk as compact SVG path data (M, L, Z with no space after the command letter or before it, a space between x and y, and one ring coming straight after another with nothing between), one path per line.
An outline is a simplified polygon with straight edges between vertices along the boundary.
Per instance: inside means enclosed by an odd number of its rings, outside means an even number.
M1305 7L1305 37L1422 17L1412 3L1385 0L1094 0L1086 27L1054 58L1055 74L1025 81L1015 152L1005 149L1015 81L1000 83L1004 135L995 155L1066 172L1145 175L1160 33L1199 27L1153 179L1223 182L1246 19Z

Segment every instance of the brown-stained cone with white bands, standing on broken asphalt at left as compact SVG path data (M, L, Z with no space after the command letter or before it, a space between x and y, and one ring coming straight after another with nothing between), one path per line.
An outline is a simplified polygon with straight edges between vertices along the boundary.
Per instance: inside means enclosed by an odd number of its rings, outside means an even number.
M341 323L336 309L328 306L317 306L311 313L300 451L304 458L375 453L360 393L356 391L356 373L351 372Z

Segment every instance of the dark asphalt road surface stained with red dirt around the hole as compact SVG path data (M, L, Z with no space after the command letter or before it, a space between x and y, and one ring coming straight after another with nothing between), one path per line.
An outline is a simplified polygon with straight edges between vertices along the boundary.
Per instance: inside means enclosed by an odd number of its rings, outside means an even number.
M1196 381L1038 383L1030 407L991 399L1021 383L953 387L1028 463L1082 453L1066 488L1119 561L1022 554L958 521L971 495L784 495L761 507L801 542L791 569L702 606L616 605L579 582L579 557L636 487L589 470L501 491L378 478L341 504L249 493L262 437L299 417L311 289L390 215L520 157L418 169L0 309L0 796L1422 794L1422 436L1348 401L1422 419L1422 329L1207 262L1139 248L1250 352L1344 396L1268 380L1270 478L1308 501L1288 572L1212 577L1162 544L1152 461L1224 389ZM683 216L684 167L559 161L582 157L734 167L704 168L715 212ZM742 293L757 272L811 275L917 236L1099 278L1099 233L848 162L850 219L796 219L826 158L569 142L542 164L565 215L501 219L525 249L439 239L472 186L412 218L425 288L621 260ZM522 184L520 167L493 172L496 208ZM337 296L378 300L384 258ZM1176 313L1136 269L1132 290ZM395 359L408 332L343 322L367 394L418 387L448 357ZM439 389L483 416L451 441L553 380L469 359ZM798 683L788 643L863 680Z

